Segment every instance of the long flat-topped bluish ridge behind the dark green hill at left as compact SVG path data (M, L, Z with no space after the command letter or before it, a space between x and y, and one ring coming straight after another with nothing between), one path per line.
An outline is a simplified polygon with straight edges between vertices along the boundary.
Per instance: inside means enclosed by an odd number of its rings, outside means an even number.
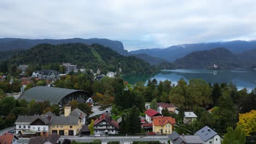
M120 53L121 55L130 55L127 50L124 49L121 41L109 40L109 39L19 39L19 38L2 38L0 39L0 51L9 51L17 49L30 49L31 47L38 44L68 44L68 43L82 43L82 44L101 44L110 49Z

